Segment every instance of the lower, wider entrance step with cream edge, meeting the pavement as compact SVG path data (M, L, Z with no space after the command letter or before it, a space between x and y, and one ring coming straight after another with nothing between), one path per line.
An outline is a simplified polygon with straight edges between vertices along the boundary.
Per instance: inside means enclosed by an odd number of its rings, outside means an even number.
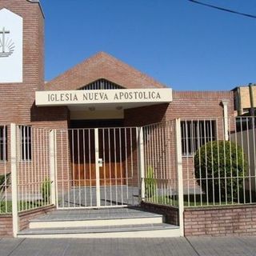
M18 233L18 238L172 238L179 236L179 227L166 223L40 228L22 230Z

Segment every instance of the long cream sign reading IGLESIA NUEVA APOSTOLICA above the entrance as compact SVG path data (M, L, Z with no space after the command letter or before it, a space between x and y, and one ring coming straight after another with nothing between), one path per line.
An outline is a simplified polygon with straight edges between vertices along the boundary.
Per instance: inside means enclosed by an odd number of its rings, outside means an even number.
M72 106L172 101L171 89L58 90L38 91L36 106Z

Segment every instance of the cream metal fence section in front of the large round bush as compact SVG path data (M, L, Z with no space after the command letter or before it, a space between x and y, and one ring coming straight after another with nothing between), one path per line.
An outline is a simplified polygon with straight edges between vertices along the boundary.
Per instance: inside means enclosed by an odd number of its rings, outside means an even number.
M184 206L256 202L255 118L182 120Z

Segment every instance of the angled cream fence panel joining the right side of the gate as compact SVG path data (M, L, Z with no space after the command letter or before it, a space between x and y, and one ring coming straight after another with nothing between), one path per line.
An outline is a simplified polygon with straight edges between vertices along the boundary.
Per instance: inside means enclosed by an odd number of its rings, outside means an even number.
M178 206L175 120L143 127L145 202Z

